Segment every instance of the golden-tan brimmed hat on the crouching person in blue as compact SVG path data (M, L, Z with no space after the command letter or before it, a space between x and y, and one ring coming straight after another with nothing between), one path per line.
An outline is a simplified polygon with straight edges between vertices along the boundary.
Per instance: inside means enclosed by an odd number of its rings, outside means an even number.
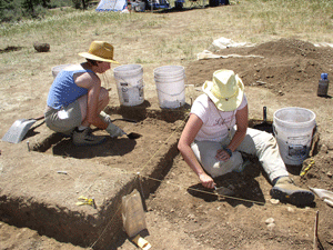
M89 47L88 52L81 52L79 56L95 61L107 61L119 63L113 60L113 46L104 41L93 41Z

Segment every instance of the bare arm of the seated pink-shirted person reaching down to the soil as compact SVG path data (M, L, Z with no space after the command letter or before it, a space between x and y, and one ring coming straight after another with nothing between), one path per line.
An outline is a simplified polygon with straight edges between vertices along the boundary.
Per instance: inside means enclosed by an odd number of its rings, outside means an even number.
M181 134L178 143L178 149L183 156L185 162L198 174L202 186L212 189L215 186L213 179L204 172L201 164L196 160L193 150L191 149L191 143L194 141L194 138L196 137L196 133L201 129L202 124L202 120L198 116L192 113Z

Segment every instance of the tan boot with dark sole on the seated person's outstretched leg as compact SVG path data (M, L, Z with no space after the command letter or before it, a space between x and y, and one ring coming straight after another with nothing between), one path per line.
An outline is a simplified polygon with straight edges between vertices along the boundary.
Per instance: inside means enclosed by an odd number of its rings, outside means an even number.
M314 200L313 192L296 187L290 177L280 177L271 189L271 196L274 199L295 206L310 204Z

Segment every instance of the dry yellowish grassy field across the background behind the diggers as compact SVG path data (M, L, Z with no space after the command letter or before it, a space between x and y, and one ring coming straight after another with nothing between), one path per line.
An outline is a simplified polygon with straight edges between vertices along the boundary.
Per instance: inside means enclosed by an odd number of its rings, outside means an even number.
M80 62L75 54L85 51L92 40L112 42L121 63L141 63L147 68L194 60L198 52L220 37L254 43L289 37L333 43L332 0L231 3L182 12L128 14L58 8L42 20L2 23L0 49L11 46L22 49L1 53L0 84L19 84L20 79L29 79L43 69L43 77L48 78L47 71L56 64ZM36 54L34 41L49 42L52 56ZM18 67L24 70L18 71Z

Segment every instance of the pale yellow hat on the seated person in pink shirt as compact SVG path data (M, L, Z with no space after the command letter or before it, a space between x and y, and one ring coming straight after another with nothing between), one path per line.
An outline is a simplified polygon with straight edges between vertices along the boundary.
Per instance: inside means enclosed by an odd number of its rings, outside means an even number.
M233 111L243 101L244 84L232 70L215 71L213 81L205 81L202 90L221 111Z

